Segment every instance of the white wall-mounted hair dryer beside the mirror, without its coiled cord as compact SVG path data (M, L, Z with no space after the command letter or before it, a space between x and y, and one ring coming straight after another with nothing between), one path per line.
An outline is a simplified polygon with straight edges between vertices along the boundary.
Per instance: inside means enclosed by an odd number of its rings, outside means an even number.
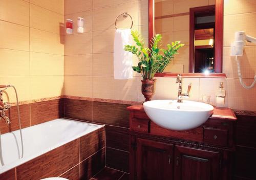
M231 56L243 55L245 41L256 44L256 38L246 35L244 31L234 33L234 42L231 45Z

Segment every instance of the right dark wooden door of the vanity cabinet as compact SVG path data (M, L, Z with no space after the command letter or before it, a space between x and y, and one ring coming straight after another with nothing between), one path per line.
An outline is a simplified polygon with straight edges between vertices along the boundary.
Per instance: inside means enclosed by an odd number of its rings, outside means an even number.
M220 154L175 146L175 180L220 180Z

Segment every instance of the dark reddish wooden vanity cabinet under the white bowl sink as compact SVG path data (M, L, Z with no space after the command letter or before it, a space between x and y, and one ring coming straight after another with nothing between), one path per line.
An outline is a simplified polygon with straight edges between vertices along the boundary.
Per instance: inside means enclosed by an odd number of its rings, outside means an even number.
M226 180L231 176L233 119L211 117L188 131L159 127L143 107L130 110L130 180ZM231 111L230 111L231 112Z

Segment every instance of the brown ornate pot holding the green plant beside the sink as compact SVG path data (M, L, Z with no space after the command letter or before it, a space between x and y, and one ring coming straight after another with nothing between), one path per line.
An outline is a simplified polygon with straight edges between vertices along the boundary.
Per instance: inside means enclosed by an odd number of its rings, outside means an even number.
M141 82L142 82L141 93L146 98L146 101L150 101L152 96L155 93L155 82L156 82L156 79L153 79L153 80L144 79L144 80L141 80Z

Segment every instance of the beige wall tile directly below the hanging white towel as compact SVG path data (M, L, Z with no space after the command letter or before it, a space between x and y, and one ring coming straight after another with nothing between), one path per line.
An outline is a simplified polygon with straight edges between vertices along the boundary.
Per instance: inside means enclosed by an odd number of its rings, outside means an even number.
M138 78L115 80L111 76L93 76L93 98L138 100Z

